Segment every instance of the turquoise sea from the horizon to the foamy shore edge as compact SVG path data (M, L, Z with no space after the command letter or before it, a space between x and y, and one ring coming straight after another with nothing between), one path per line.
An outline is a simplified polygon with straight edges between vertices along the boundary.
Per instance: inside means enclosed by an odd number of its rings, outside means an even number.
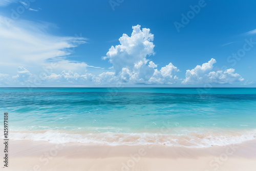
M14 140L207 147L256 138L254 88L1 88L0 93Z

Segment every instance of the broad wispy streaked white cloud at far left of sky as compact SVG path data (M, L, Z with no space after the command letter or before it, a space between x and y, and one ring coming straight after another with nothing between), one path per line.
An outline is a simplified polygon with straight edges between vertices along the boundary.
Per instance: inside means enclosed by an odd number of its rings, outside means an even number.
M44 23L44 25L46 25ZM2 73L12 73L18 66L41 68L49 59L57 62L59 69L85 71L87 64L70 61L66 57L73 53L70 48L87 42L83 37L55 36L47 33L48 26L19 20L7 27L5 18L0 16L0 56ZM59 59L59 57L62 57Z

